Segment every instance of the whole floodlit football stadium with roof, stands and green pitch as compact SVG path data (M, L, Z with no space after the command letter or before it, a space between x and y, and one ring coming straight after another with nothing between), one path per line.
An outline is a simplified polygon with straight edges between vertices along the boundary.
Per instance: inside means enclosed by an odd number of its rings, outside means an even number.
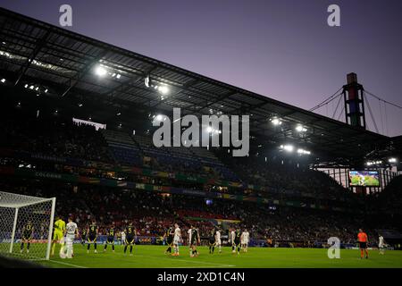
M4 8L0 26L1 256L72 268L402 267L402 136L368 130L376 96L356 73L316 106L338 102L331 118ZM171 146L184 125L155 147L173 108L247 115L247 156ZM222 128L201 125L197 138L219 141ZM78 228L64 237L69 220Z

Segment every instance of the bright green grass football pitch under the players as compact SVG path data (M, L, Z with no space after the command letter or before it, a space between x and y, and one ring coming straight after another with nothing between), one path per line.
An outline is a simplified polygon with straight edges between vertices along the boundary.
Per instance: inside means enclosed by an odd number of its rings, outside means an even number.
M164 255L163 246L134 246L133 255L123 254L123 247L110 246L98 252L93 248L74 246L74 257L62 259L58 255L50 261L40 262L47 267L73 268L402 268L402 251L389 250L380 255L378 250L369 251L369 259L360 259L360 251L340 249L339 259L330 259L327 249L317 248L248 248L247 253L232 254L231 248L222 253L209 254L207 247L199 247L199 257L189 257L188 247L180 248L180 257ZM216 250L216 249L215 249ZM129 251L128 251L129 253Z

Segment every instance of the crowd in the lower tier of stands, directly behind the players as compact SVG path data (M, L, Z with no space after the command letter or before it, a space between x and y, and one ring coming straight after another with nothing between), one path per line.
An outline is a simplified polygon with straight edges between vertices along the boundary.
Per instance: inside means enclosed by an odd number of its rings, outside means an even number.
M356 231L362 227L372 243L377 240L376 225L364 215L226 199L214 199L207 205L200 197L54 181L2 180L0 187L31 196L55 196L57 214L65 219L72 216L80 229L96 220L100 234L105 234L112 222L118 229L133 222L138 236L160 237L172 223L179 223L185 239L191 224L199 229L202 238L207 238L222 220L224 231L240 227L247 229L253 240L272 240L286 246L292 243L314 247L330 237L354 244Z

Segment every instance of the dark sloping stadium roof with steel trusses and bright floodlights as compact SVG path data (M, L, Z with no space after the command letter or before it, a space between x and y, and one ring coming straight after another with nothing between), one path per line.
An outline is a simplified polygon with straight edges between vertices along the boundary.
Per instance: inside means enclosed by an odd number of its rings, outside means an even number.
M292 142L333 158L363 158L389 142L372 131L3 8L0 26L0 75L16 86L43 84L49 97L88 100L114 110L125 106L171 112L172 107L180 107L184 114L250 114L250 132L258 144ZM99 65L106 72L101 79L95 72ZM169 93L163 96L147 88L147 77L159 86L167 85ZM91 108L97 120L112 120L111 114L96 114L97 108ZM281 118L280 126L270 122L274 116ZM297 132L297 124L306 126L306 132Z

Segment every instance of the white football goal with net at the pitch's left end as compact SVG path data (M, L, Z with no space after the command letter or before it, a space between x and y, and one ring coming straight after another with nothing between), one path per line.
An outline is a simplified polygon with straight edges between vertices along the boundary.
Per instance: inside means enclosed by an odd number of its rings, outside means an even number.
M48 260L54 206L55 198L30 197L0 191L0 255Z

